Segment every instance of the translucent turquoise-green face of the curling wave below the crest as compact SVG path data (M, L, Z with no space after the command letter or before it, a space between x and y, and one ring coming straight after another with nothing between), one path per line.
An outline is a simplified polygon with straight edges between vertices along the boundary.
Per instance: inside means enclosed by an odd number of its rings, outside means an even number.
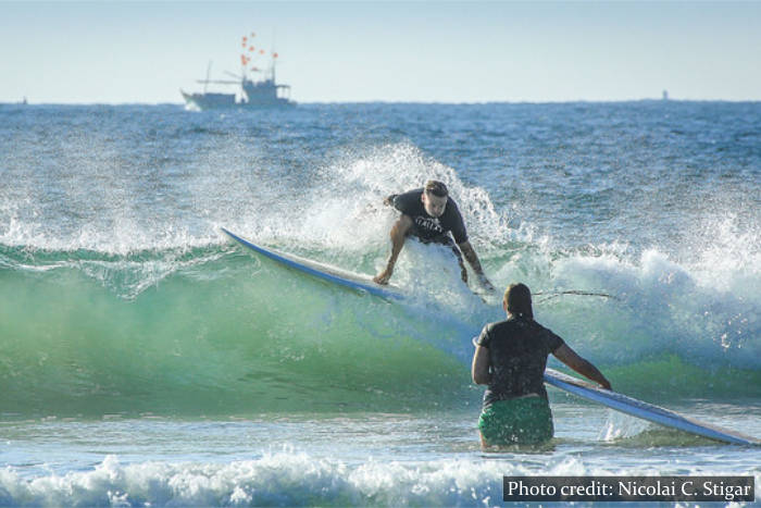
M498 308L473 295L461 307L423 298L400 307L227 248L226 260L203 264L212 276L182 270L135 299L72 268L5 272L2 412L414 412L473 398L471 337L499 319ZM538 319L552 320L616 389L664 404L758 400L757 359L706 340L707 329L683 342L702 350L681 351L670 344L689 331L679 322L651 335L632 325L633 302L563 298L537 302ZM576 323L579 313L587 318Z

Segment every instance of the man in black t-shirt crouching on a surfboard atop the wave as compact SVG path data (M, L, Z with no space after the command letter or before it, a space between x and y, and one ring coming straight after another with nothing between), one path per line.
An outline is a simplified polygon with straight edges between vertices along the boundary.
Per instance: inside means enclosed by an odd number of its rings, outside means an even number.
M378 284L388 284L394 274L399 252L404 246L404 240L412 235L424 244L433 243L451 247L460 263L462 280L467 283L467 270L462 262L464 256L476 273L481 285L489 292L495 290L484 274L478 256L467 240L465 223L457 203L449 197L449 190L444 183L429 179L425 187L391 195L384 200L384 203L399 210L401 216L391 227L391 255L388 257L386 268L373 277L373 281Z

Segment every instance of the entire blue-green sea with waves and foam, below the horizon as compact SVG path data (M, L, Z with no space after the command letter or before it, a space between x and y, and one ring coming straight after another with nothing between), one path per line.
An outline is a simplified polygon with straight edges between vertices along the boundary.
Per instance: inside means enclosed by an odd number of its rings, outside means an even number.
M761 103L4 104L0 505L483 507L598 474L760 499L760 448L554 388L549 446L481 450L471 337L501 313L444 248L408 241L397 305L220 232L374 274L383 198L428 178L614 389L761 437Z

